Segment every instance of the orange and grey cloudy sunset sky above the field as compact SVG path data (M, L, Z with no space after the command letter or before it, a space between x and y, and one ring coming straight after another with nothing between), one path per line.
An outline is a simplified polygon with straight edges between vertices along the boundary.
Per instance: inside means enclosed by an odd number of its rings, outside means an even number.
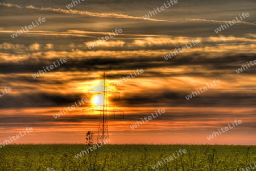
M167 1L70 3L0 1L0 89L11 87L5 95L0 91L0 143L30 127L33 131L13 144L85 143L86 132L97 135L99 122L99 112L82 112L96 105L97 93L89 89L101 85L104 72L113 85L143 69L113 87L119 100L109 93L109 105L125 113L123 119L108 112L110 143L255 145L256 66L236 72L256 60L254 0L178 0L149 19L143 16ZM214 31L243 12L249 16ZM45 22L36 24L39 18ZM11 36L32 22L36 27ZM121 31L113 36L116 29ZM88 47L109 34L109 40ZM199 43L164 58L192 40ZM53 62L53 69L33 77ZM220 84L185 98L214 80ZM53 117L82 98L88 102ZM130 127L158 109L166 112ZM242 123L207 138L234 120Z

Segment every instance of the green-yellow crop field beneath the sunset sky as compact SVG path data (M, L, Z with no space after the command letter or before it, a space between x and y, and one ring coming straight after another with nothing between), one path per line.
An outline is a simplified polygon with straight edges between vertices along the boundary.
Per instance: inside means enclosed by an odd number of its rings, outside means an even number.
M242 170L254 166L256 146L242 145L102 145L75 156L84 144L6 145L0 148L0 170L154 170L166 157L186 153L155 170ZM251 170L256 170L256 167Z

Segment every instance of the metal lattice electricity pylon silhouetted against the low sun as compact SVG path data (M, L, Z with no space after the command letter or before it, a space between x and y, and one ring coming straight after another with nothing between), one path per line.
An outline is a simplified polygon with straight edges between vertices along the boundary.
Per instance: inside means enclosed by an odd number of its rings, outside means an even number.
M108 93L117 93L118 99L120 99L120 93L106 85L105 72L103 76L103 84L101 87L103 88L103 91L97 91L95 89L90 89L89 91L94 91L94 93L103 95L102 105L88 107L86 109L83 109L82 112L84 112L84 110L100 111L100 123L98 124L97 141L98 143L102 142L105 144L105 139L109 138L108 112L114 112L114 114L115 112L122 112L123 118L124 118L124 112L108 105Z

